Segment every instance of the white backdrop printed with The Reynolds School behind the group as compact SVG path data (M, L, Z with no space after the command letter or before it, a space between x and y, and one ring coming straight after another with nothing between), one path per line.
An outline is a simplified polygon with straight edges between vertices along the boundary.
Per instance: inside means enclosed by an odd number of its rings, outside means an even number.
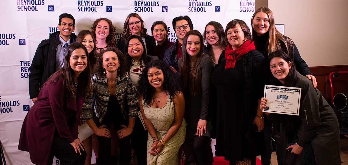
M90 30L95 19L109 18L116 27L116 38L120 39L127 15L138 13L149 35L152 23L162 20L168 25L169 40L175 42L172 19L176 16L188 15L194 29L203 33L209 21L220 22L225 27L230 20L238 18L250 26L254 11L254 0L1 1L0 140L7 164L31 164L29 153L17 149L23 119L33 105L29 98L29 67L38 44L58 31L60 14L74 16L76 35L81 30Z

